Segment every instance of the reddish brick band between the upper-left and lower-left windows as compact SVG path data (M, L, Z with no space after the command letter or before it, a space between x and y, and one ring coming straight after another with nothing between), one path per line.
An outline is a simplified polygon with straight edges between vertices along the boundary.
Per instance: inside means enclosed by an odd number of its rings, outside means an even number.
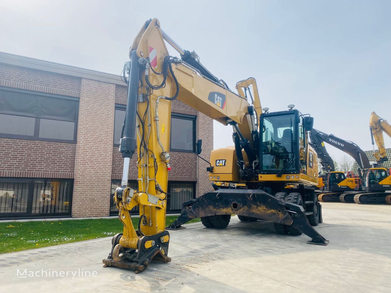
M0 177L74 178L76 144L0 138Z

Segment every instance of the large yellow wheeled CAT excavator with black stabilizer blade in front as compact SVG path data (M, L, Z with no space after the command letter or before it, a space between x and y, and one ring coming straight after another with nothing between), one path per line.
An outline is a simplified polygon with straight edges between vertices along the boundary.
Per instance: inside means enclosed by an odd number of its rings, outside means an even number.
M165 42L180 58L169 55ZM317 155L308 144L312 117L294 105L287 111L264 109L262 113L255 79L238 82L238 93L233 92L200 63L194 51L183 50L163 32L156 18L145 22L129 57L123 74L127 83L120 141L124 166L113 198L124 229L113 237L111 251L103 259L105 267L140 273L151 261L170 262L168 230L183 229L183 223L197 217L214 228L226 227L232 214L269 220L278 233L304 233L309 244L328 244L312 227L322 222L312 187L317 184ZM175 99L233 128L234 146L213 150L206 172L211 182L236 185L215 185L216 190L183 203L179 218L166 229L170 114ZM197 141L197 155L201 146L202 141ZM127 186L133 155L137 190ZM294 188L285 188L288 184ZM129 211L137 205L140 218L135 230Z

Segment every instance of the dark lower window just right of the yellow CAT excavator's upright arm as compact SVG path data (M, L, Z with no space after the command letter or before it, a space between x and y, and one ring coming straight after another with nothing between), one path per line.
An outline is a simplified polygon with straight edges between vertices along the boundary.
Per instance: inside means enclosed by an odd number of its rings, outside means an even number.
M171 197L167 202L167 211L179 212L184 202L195 198L195 182L169 181Z

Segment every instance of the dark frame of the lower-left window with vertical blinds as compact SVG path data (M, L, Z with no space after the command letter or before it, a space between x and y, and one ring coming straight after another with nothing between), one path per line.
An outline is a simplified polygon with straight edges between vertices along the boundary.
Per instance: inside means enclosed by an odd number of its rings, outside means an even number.
M70 182L70 195L69 195L69 211L67 213L32 213L32 204L34 196L34 183L36 181L58 181L58 182ZM0 182L11 183L28 183L29 189L27 192L27 211L25 213L0 213L0 220L13 220L13 219L39 219L39 218L64 218L72 217L72 201L73 201L73 189L74 179L65 178L38 178L38 177L0 177Z

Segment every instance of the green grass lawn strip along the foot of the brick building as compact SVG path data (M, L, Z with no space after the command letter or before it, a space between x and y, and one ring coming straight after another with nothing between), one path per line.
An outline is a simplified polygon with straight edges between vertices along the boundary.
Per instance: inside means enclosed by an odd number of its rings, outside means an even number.
M178 216L167 216L166 226ZM193 219L188 223L199 222ZM132 218L137 229L138 218ZM113 236L122 232L118 218L0 223L0 254Z

